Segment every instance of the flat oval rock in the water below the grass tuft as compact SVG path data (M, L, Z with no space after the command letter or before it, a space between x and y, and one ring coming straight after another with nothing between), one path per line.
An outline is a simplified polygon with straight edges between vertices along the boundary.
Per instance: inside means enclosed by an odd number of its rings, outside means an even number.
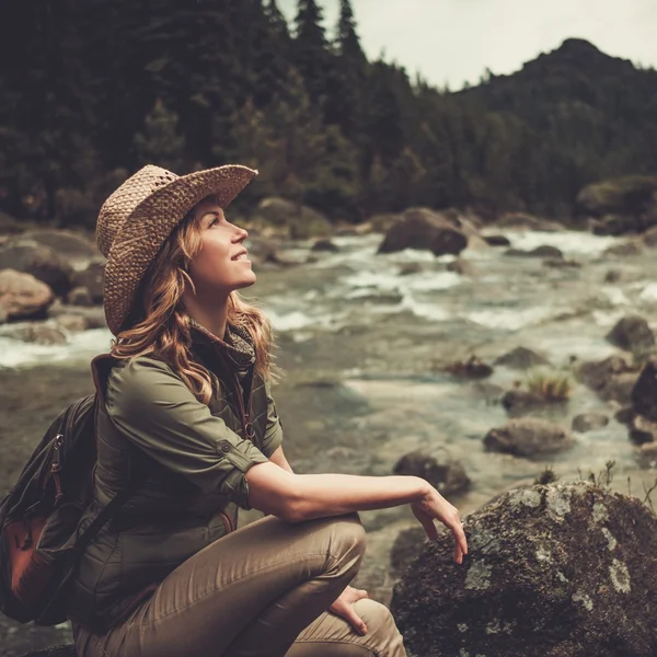
M484 446L516 457L539 457L572 448L575 439L562 426L539 417L519 417L491 429Z

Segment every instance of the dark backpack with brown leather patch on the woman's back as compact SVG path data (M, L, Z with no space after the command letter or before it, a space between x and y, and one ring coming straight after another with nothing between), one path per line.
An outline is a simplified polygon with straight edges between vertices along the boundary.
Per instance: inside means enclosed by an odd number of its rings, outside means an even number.
M0 611L21 623L67 620L66 596L79 557L134 489L130 483L79 532L92 502L101 369L112 361L108 354L92 360L95 393L59 413L0 503Z

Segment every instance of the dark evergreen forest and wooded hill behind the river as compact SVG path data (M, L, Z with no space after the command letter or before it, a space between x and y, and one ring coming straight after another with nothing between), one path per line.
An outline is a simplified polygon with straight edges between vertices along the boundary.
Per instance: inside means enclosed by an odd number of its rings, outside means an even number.
M0 4L0 212L95 223L152 162L260 170L267 196L359 222L410 206L566 220L586 185L657 173L657 71L570 38L509 76L438 89L368 60L349 0Z

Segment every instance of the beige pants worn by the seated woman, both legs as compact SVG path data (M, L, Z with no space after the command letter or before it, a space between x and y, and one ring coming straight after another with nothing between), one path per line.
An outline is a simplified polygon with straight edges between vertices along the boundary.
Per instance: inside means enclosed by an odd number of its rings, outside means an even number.
M357 514L290 525L273 516L208 545L173 570L123 624L73 626L80 657L405 657L390 611L364 599L359 635L327 612L358 572Z

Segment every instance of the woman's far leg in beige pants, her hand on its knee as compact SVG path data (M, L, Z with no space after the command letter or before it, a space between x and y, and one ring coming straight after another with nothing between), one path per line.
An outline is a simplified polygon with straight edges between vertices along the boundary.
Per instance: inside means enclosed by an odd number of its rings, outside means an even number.
M299 634L285 657L406 657L404 641L387 607L367 598L354 607L367 625L365 636L326 611Z

